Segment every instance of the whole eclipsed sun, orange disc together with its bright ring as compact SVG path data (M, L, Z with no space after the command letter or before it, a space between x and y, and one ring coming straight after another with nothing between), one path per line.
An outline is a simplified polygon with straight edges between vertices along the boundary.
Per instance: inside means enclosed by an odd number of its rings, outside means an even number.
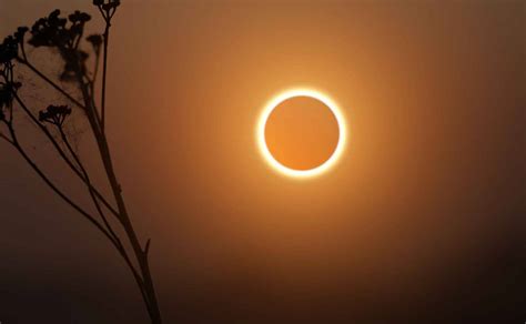
M346 129L336 103L308 89L285 91L270 100L257 123L265 161L294 178L318 175L342 155Z

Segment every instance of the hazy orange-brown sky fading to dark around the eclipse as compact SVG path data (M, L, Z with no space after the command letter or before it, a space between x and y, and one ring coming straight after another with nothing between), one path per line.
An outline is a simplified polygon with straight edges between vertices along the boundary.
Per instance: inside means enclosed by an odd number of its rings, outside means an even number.
M524 1L122 2L108 136L165 323L526 320ZM55 8L101 28L88 0L0 0L0 34ZM36 110L59 98L22 82ZM299 182L254 129L301 85L340 103L351 139ZM88 132L78 144L97 169ZM0 322L145 323L102 235L0 156Z

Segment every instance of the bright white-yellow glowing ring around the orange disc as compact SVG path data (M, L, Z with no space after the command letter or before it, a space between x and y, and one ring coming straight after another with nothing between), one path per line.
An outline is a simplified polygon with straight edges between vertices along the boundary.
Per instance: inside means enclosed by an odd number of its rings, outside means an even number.
M333 154L323 164L313 169L308 169L308 170L295 170L295 169L291 169L283 165L276 159L274 159L265 141L266 121L269 120L269 117L271 115L272 111L277 105L280 105L280 103L282 103L283 101L294 98L294 97L308 97L308 98L313 98L315 100L321 101L323 104L328 107L328 109L331 109L334 117L336 118L336 122L338 126L338 141ZM311 89L287 90L274 97L265 104L263 112L261 113L259 122L257 122L256 139L257 139L257 145L260 148L261 153L263 154L264 160L273 169L280 171L281 173L285 175L293 176L293 178L312 178L312 176L316 176L324 173L340 160L345 146L345 141L346 141L345 120L337 104L327 95L316 90L311 90Z

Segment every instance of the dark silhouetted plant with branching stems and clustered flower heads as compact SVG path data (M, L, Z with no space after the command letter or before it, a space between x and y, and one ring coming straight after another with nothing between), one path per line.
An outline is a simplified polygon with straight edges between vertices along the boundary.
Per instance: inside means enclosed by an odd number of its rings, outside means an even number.
M91 34L84 37L85 23L91 17L85 12L75 11L62 18L60 10L54 10L48 17L34 22L31 29L19 28L12 36L8 36L0 44L0 139L9 143L23 158L23 160L37 172L37 174L57 193L63 201L70 204L79 214L85 217L100 231L110 243L117 249L130 269L135 283L142 294L145 307L152 323L161 323L161 313L156 300L154 284L149 266L150 240L141 244L135 230L133 229L127 205L119 184L111 151L108 144L104 130L105 115L105 87L107 87L107 64L110 27L115 14L119 0L93 0L93 4L100 11L105 27L102 34ZM27 34L29 32L29 39ZM87 67L89 53L81 49L81 42L85 40L91 44L94 54L94 67ZM34 48L52 48L63 61L62 71L59 79L63 82L71 82L79 91L81 100L77 100L73 93L69 93L51 78L41 72L28 58L26 45ZM102 51L102 53L101 53ZM100 109L97 104L95 82L100 60L102 63L102 87L100 95ZM55 91L62 94L70 104L49 104L41 110L38 115L28 108L27 102L19 94L22 83L17 79L17 65L24 65L32 71L36 78L42 79ZM100 152L102 165L112 192L112 200L105 198L94 183L91 182L90 172L84 168L78 152L70 143L69 135L64 132L64 124L73 110L80 110L88 120L93 139ZM37 162L28 154L24 145L18 138L18 121L14 111L29 117L30 121L38 126L38 130L49 141L53 150L71 169L77 179L87 188L97 214L80 206L67 192L59 189L54 182L45 174ZM6 132L7 131L7 132ZM57 136L57 134L59 134ZM124 239L129 241L124 243Z

